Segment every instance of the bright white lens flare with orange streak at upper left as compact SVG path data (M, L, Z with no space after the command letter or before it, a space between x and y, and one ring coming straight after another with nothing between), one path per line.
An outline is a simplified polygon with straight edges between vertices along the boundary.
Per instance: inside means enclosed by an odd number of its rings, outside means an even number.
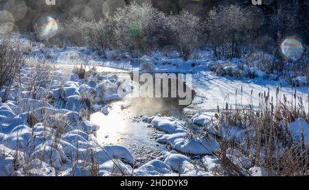
M55 19L47 16L46 19L41 23L41 27L38 31L38 36L41 39L48 40L54 37L58 32L58 24Z

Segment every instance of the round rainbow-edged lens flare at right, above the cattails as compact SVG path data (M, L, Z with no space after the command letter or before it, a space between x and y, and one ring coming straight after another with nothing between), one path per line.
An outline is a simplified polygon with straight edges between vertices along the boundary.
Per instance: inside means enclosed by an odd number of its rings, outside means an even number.
M304 54L304 47L295 36L290 36L282 42L281 52L286 59L296 61Z

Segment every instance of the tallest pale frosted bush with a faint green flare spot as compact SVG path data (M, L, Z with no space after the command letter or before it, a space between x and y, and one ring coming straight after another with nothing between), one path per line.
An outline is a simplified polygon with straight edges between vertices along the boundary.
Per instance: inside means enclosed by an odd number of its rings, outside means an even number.
M153 8L149 1L133 2L119 9L113 19L119 49L137 57L139 53L147 53L157 46L164 14Z

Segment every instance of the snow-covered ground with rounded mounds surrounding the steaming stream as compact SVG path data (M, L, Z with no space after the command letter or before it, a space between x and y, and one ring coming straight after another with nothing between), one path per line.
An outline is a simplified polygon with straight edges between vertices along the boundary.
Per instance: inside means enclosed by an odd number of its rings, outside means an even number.
M293 100L294 90L289 84L266 80L262 71L255 79L217 76L209 71L212 58L207 51L198 60L185 62L174 53L165 56L154 53L137 60L117 51L106 51L104 56L99 56L98 52L84 47L51 49L37 44L32 47L27 61L33 62L36 58L47 60L56 69L44 70L52 78L39 86L35 95L31 86L36 84L33 82L37 76L43 76L38 68L27 65L21 70L21 80L9 93L0 91L0 95L6 93L0 104L0 176L216 175L220 171L220 162L214 153L220 145L210 135L192 134L190 123L205 126L213 118L217 106L223 108L226 102L233 105L237 101L237 104L258 107L259 93L268 93L268 90L274 99L279 88L278 98L282 99L285 94ZM71 73L74 64L87 64L89 68L95 65L99 74L81 79ZM117 113L126 109L125 105L113 108L110 105L115 104L108 104L125 97L117 92L117 88L128 77L123 74L133 69L193 73L192 89L196 95L192 104L183 110L189 121L173 115L117 118ZM132 85L129 83L126 87ZM303 98L308 110L308 87L299 87L297 96ZM97 114L92 115L94 119L84 115L87 110ZM112 117L114 120L109 120ZM119 132L130 134L126 130L133 130L122 126L127 125L122 119L135 119L139 123L137 126L152 128L151 135L155 138L148 143L153 147L160 143L160 152L152 155L150 161L136 157L140 155L135 154L137 150L120 144L125 135L113 136ZM107 123L112 121L115 122ZM306 121L299 119L290 123L290 128L296 140L299 140L300 132L304 132L308 143ZM145 130L147 128L138 129L135 133L143 136L141 141L148 138ZM216 130L209 131L216 134ZM241 141L244 131L229 128L229 134L229 138ZM102 139L108 137L112 137L113 142ZM130 143L130 136L126 138L126 143ZM251 168L252 175L263 175L262 169L253 167L251 158L241 152L227 150L227 156L233 163Z

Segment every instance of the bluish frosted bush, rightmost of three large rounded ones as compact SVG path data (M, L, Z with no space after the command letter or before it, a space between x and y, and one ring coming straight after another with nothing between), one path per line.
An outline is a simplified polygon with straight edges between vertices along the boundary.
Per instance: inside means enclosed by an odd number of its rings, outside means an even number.
M221 5L211 10L206 27L215 56L239 57L242 46L250 42L248 23L244 10L238 5Z

